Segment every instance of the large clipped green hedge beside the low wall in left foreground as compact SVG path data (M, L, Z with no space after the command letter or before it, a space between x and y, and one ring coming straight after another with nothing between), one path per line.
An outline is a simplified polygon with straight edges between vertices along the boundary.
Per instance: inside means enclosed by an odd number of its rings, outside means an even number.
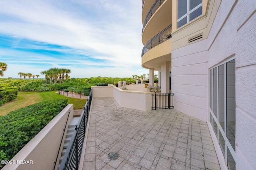
M0 116L1 160L12 159L67 104L64 99L49 100Z

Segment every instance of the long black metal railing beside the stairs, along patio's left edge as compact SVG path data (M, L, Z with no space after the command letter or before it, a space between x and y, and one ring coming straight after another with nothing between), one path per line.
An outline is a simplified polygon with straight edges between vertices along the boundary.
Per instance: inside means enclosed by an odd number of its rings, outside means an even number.
M92 90L90 91L82 115L76 125L75 132L70 139L70 143L60 163L59 170L78 170L91 104Z

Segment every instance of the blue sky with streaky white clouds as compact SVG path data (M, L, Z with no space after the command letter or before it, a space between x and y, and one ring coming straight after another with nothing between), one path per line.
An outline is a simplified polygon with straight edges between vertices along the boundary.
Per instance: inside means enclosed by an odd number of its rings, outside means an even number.
M70 77L132 77L141 67L141 0L1 0L3 78L70 68Z

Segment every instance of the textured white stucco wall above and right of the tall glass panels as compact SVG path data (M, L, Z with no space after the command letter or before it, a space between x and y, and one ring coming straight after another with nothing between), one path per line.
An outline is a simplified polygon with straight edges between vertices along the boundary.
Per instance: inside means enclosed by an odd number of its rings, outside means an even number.
M256 167L256 1L222 0L208 43L208 67L236 58L236 169Z

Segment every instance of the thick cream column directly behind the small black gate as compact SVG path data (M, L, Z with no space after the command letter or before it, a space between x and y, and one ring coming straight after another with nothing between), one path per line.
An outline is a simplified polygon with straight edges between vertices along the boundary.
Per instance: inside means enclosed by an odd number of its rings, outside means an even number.
M169 63L165 63L161 65L161 74L162 74L162 80L161 80L161 93L169 93Z

